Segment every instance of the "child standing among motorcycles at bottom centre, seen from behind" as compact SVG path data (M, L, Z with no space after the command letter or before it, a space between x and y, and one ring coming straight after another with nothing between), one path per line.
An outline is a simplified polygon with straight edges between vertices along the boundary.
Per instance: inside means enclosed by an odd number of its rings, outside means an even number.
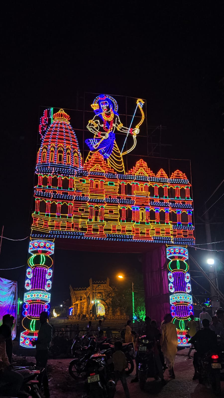
M128 385L126 381L126 375L125 375L125 369L127 367L127 359L125 354L121 351L122 342L115 341L114 348L115 348L115 353L113 354L113 361L114 361L115 385L117 385L118 380L120 380L122 382L126 398L130 398Z

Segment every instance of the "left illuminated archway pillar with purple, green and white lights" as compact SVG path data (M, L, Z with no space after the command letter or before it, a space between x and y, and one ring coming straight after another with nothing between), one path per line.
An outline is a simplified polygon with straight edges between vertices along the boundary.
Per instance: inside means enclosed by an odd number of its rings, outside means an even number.
M54 243L50 240L31 240L29 243L28 267L22 312L23 331L20 345L33 348L32 339L37 338L39 330L39 314L49 314L51 298L51 279L53 274Z

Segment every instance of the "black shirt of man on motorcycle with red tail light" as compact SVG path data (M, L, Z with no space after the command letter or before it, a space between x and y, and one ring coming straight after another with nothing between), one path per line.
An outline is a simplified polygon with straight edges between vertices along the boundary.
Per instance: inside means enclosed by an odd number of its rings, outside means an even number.
M209 328L203 328L196 332L195 336L193 336L189 343L196 342L196 351L198 355L203 355L208 351L216 351L217 350L217 337L213 330Z

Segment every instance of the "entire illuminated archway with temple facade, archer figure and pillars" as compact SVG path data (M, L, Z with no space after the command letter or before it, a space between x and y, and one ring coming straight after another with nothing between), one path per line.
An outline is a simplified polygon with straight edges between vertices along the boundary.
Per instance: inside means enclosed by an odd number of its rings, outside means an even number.
M187 244L195 243L189 162L147 157L144 100L87 93L81 107L45 109L40 119L21 345L30 347L39 312L49 311L55 245L144 253L146 314L161 322L171 311L185 345Z

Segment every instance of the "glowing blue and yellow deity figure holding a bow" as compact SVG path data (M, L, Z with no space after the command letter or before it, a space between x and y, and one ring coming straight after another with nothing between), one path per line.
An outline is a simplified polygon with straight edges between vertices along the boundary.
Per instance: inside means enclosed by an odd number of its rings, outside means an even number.
M136 109L138 106L141 109L142 105L143 101L138 100ZM87 139L85 141L90 148L90 152L88 153L86 160L90 160L93 153L99 152L104 159L107 160L108 165L112 169L118 173L124 173L124 162L122 156L131 152L136 146L136 135L139 133L139 126L144 119L144 113L141 109L142 120L138 123L136 128L131 129L131 126L128 128L122 125L118 115L118 104L114 98L100 95L95 98L91 107L94 109L96 115L89 121L87 129L91 131L91 133L94 133L94 138ZM123 152L124 146L122 151L119 150L115 140L115 130L121 133L126 133L127 137L129 134L133 136L134 145L132 145L132 147L126 152Z

